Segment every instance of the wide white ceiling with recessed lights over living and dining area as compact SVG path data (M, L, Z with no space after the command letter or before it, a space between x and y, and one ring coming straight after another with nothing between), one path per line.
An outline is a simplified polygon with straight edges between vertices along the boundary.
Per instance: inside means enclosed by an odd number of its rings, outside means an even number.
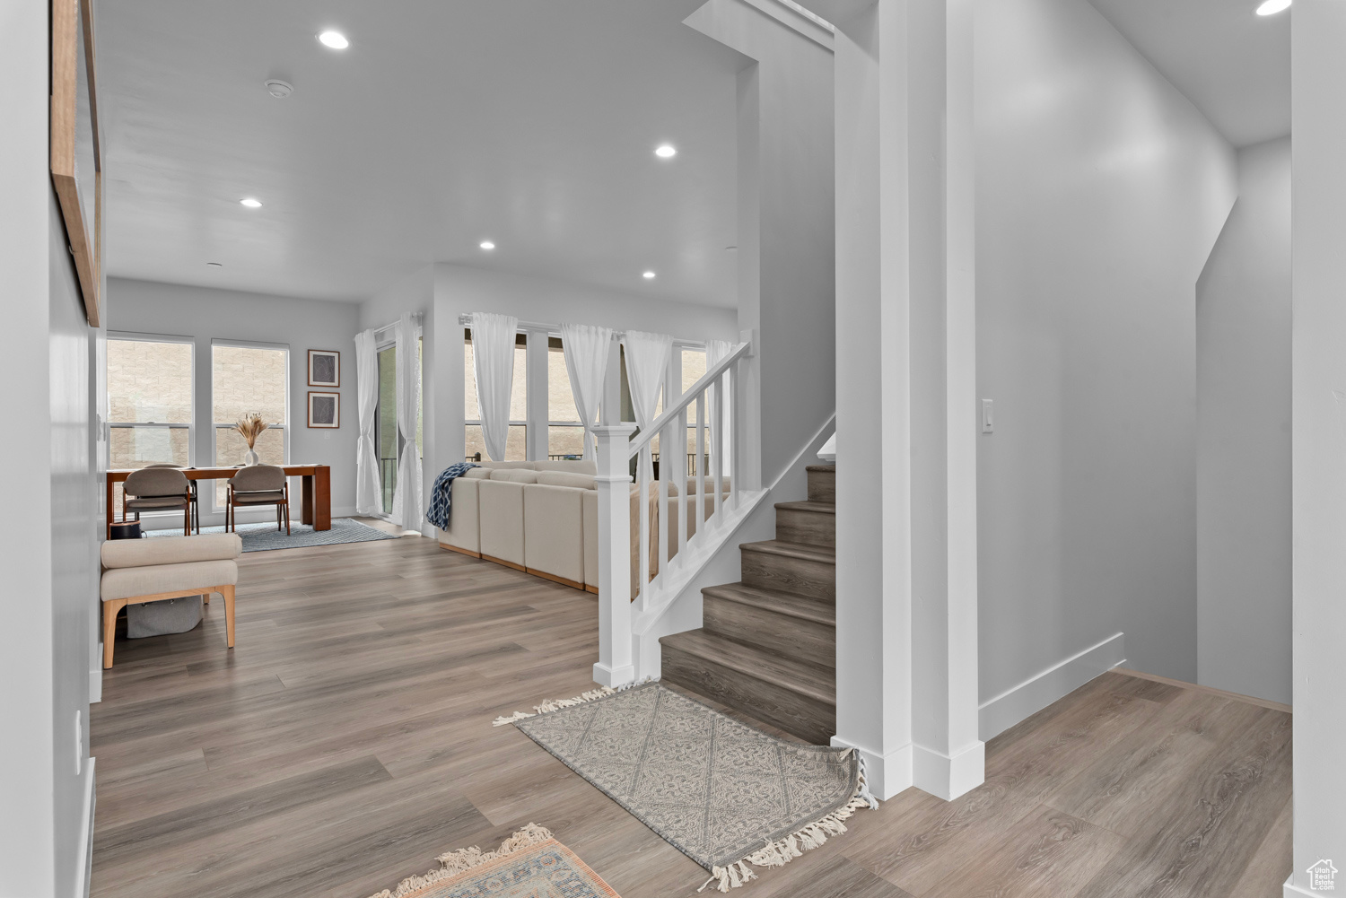
M358 300L444 261L734 306L744 61L681 24L700 3L106 0L108 271Z

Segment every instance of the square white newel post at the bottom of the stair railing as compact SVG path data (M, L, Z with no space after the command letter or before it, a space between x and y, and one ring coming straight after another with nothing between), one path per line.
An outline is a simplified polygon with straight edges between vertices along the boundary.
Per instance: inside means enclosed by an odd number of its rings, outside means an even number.
M635 680L631 658L631 475L635 424L603 424L598 438L598 664L594 681L606 687ZM619 547L619 548L618 548Z

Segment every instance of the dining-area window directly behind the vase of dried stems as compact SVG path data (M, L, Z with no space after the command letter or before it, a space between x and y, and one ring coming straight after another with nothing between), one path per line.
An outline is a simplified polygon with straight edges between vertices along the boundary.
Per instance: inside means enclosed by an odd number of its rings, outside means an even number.
M262 464L289 460L289 350L283 346L213 343L210 359L214 464L244 463L248 443L234 429L244 415L261 415L268 428L253 450ZM225 481L215 481L215 509L225 506Z

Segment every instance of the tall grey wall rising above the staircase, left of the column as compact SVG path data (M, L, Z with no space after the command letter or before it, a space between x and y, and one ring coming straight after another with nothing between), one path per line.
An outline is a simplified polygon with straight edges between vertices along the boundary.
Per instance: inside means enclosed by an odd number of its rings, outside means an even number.
M832 35L770 1L711 0L685 22L755 61L739 74L738 326L758 333L759 403L740 408L760 409L770 485L836 412Z

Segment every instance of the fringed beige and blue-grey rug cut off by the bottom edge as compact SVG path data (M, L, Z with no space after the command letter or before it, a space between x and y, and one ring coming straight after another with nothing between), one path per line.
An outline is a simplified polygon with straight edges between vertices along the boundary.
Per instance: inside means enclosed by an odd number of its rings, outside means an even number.
M460 848L436 860L439 870L371 898L619 898L551 831L532 823L495 851Z

